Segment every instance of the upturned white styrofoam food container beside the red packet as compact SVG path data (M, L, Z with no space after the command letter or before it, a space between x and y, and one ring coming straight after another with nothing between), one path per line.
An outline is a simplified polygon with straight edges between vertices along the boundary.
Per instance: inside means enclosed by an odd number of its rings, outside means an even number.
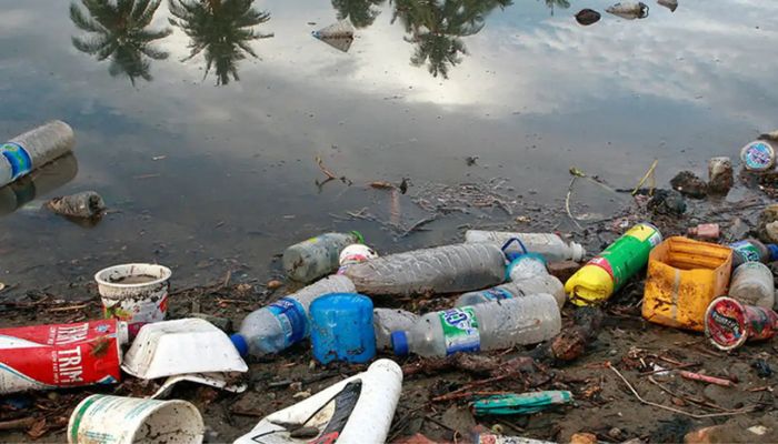
M121 367L143 380L249 370L225 332L196 317L143 325Z

